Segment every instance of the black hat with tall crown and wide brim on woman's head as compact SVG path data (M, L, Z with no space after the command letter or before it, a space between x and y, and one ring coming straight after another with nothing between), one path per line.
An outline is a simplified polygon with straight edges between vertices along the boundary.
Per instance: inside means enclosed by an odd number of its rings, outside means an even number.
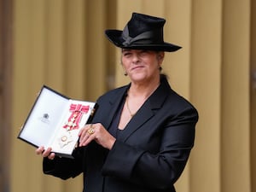
M176 51L181 47L164 41L165 23L163 18L133 13L123 31L108 29L105 34L113 44L123 49Z

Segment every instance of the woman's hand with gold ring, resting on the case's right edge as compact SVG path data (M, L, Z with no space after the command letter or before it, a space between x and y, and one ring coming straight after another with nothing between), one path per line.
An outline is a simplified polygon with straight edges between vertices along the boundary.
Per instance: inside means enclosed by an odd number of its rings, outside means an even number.
M79 137L79 147L86 146L95 140L102 147L111 149L116 140L100 123L85 125L79 131Z

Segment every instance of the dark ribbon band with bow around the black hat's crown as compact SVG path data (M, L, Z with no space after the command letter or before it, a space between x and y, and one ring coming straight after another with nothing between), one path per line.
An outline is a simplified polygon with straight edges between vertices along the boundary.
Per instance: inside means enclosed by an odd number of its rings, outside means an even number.
M135 38L131 38L127 26L125 26L123 30L122 38L125 39L125 41L122 43L124 46L129 46L132 44L162 44L164 42L162 30L143 32L137 35Z

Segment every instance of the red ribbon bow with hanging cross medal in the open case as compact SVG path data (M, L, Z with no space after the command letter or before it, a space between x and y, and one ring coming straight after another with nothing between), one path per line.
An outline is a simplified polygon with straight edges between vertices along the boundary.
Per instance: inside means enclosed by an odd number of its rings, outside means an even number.
M69 111L72 112L68 118L67 124L63 128L69 128L69 130L79 129L79 122L84 113L88 113L90 106L84 106L82 104L71 104Z

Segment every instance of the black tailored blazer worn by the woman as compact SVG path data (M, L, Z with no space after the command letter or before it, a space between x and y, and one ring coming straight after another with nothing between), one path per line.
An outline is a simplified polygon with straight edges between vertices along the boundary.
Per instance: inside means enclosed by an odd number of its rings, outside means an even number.
M109 128L130 84L101 96L93 119ZM44 159L44 173L67 179L84 172L84 192L174 192L194 145L196 109L161 78L109 151L77 148L74 160Z

